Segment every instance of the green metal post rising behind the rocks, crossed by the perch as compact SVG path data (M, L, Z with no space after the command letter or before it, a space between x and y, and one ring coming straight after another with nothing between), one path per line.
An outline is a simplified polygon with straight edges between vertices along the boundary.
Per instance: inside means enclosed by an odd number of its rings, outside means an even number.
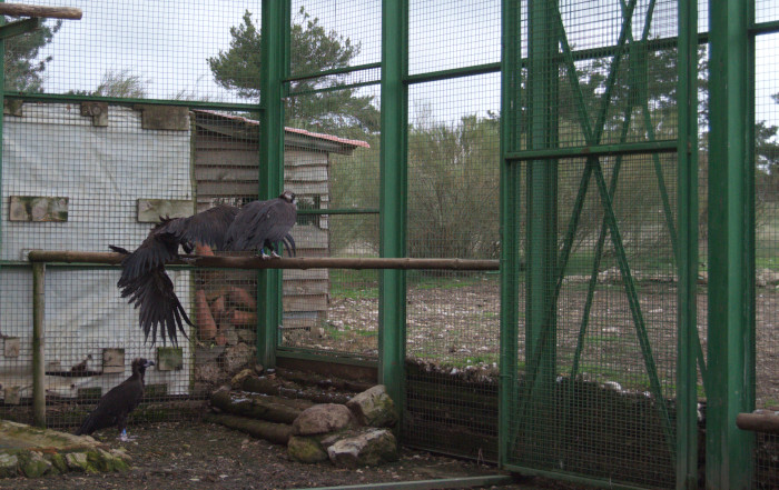
M408 2L382 2L381 257L406 254ZM378 282L378 378L404 407L406 274L382 270Z

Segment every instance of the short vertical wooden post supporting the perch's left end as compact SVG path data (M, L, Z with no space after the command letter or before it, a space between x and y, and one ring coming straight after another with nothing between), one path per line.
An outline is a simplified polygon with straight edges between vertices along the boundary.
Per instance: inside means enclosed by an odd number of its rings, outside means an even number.
M32 423L46 427L46 263L32 264Z

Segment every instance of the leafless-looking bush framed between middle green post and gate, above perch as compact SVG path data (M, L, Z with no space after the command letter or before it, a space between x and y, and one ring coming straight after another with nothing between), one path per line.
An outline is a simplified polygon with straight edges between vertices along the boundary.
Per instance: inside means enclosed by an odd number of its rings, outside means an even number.
M408 256L497 256L500 124L463 117L408 132Z

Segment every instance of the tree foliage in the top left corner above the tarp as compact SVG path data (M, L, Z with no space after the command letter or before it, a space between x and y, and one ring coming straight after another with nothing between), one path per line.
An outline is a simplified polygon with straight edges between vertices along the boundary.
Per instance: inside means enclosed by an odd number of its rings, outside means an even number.
M8 22L9 19L6 19ZM62 21L43 23L40 29L6 40L6 90L42 92L46 64L51 57L38 59L41 48L50 43Z

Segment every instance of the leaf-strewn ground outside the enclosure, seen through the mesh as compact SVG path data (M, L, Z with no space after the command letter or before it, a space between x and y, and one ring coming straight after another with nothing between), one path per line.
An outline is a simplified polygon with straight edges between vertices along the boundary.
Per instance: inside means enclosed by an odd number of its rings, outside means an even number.
M582 323L586 279L570 278L561 291L556 321L561 369L575 356ZM677 288L673 282L638 282L641 314L661 383L676 386ZM706 356L706 286L698 296L698 324ZM779 288L757 288L757 407L779 409ZM410 287L407 293L406 349L410 358L457 369L494 370L500 343L500 289L494 278L450 280L443 287ZM333 298L328 320L315 336L290 332L285 344L364 356L377 353L378 300L372 294ZM520 293L520 322L524 321L524 291ZM522 327L522 324L521 324ZM296 334L297 333L297 334ZM523 361L524 334L519 338ZM649 389L643 357L627 294L609 277L599 284L580 358L579 374L598 382L618 382L623 389ZM673 396L671 391L667 396Z

